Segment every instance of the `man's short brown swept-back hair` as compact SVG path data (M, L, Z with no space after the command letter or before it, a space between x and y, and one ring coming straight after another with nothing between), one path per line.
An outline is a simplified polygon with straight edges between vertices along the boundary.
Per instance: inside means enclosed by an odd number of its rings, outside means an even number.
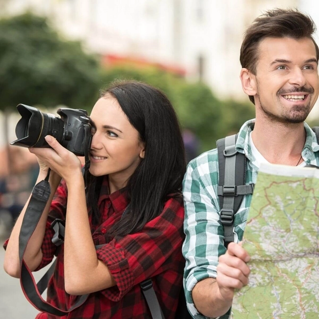
M240 63L242 68L248 69L256 75L256 66L259 58L259 44L264 38L292 39L309 38L313 41L317 61L319 59L319 48L313 34L316 25L311 17L292 9L273 9L256 18L252 25L247 28L240 48ZM255 104L254 97L249 96Z

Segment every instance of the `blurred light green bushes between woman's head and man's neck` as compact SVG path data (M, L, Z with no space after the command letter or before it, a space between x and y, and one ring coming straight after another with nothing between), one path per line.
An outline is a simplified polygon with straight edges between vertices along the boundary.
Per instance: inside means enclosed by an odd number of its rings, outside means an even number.
M121 66L103 71L106 86L114 79L140 80L161 89L175 107L182 128L190 129L199 138L201 152L215 148L218 138L237 133L246 120L255 116L248 99L247 103L218 100L204 83L190 83L156 68Z

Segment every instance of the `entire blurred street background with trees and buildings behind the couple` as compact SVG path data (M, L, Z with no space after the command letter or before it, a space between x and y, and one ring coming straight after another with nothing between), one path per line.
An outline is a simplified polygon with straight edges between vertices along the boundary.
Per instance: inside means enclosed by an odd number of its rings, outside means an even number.
M170 98L191 160L254 118L239 49L245 28L275 7L298 8L319 27L313 0L0 0L1 245L38 172L26 148L9 145L18 104L90 113L112 80L142 80ZM318 103L308 123L319 125ZM32 319L37 311L19 280L4 273L3 255L0 249L0 319Z

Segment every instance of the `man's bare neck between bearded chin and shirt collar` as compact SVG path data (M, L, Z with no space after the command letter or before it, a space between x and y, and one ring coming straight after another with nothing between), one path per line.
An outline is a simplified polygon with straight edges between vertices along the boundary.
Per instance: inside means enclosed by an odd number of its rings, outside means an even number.
M295 166L305 145L306 132L303 123L287 125L256 118L251 137L270 163Z

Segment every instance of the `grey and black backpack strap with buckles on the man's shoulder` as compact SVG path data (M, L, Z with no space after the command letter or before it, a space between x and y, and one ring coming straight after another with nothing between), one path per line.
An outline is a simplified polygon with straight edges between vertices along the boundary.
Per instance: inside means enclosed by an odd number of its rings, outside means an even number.
M236 151L238 134L217 140L220 221L224 226L225 246L234 241L233 225L235 213L239 210L242 198L252 194L254 184L245 185L246 157Z

